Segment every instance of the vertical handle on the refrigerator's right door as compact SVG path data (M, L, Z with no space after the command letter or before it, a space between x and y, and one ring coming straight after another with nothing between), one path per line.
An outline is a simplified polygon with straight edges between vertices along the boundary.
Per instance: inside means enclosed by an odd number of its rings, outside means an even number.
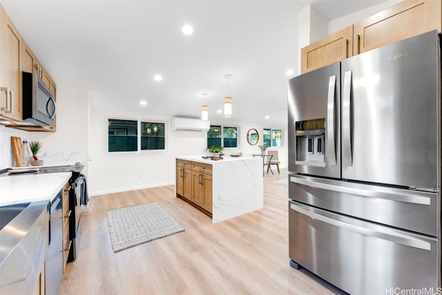
M343 160L345 166L353 166L352 163L352 103L350 99L352 90L352 70L344 74L343 90Z

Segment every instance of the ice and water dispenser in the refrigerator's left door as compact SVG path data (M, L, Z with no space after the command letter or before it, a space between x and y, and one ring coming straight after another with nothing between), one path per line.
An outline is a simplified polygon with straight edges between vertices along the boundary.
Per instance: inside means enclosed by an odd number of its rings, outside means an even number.
M296 164L325 166L325 118L296 122Z

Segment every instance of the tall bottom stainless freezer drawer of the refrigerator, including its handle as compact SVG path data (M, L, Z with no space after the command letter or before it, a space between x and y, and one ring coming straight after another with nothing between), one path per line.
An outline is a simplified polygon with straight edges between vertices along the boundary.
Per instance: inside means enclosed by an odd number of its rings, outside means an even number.
M439 247L436 238L289 201L290 258L350 294L393 294L394 288L436 292Z

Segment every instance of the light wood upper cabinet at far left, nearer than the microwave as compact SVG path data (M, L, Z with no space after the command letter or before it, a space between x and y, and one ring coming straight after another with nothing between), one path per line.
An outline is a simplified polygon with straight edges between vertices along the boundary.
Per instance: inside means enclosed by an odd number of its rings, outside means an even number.
M0 40L0 117L21 121L22 38L1 6Z

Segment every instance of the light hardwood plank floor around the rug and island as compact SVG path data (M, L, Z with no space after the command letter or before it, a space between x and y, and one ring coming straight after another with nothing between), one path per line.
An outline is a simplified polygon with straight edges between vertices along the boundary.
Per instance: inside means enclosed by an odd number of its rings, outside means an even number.
M266 174L264 209L216 224L174 186L90 198L60 294L340 294L289 265L288 186L274 183L286 178ZM114 254L107 210L151 201L185 231Z

